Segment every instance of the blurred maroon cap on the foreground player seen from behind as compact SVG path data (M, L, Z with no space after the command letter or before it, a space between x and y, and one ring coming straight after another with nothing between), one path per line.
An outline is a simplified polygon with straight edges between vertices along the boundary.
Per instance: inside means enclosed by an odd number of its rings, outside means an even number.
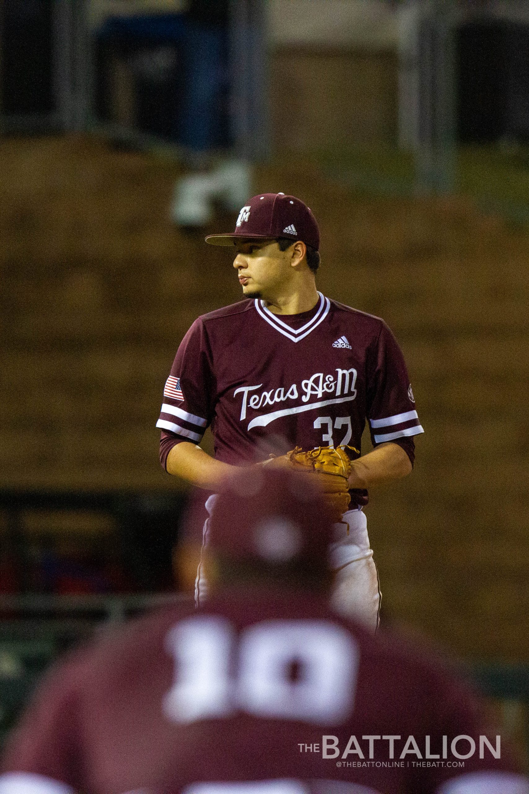
M257 465L225 480L208 521L208 546L233 560L325 570L332 529L316 477Z

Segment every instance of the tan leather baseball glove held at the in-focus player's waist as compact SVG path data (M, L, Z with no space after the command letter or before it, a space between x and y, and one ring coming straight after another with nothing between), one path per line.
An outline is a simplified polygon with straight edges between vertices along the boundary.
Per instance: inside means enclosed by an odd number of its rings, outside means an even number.
M351 446L316 447L307 452L301 447L296 447L286 455L270 457L270 460L265 461L265 465L286 466L317 476L318 484L331 507L332 518L335 522L339 522L351 502L348 484L351 458L347 455L347 449L358 453L358 449Z

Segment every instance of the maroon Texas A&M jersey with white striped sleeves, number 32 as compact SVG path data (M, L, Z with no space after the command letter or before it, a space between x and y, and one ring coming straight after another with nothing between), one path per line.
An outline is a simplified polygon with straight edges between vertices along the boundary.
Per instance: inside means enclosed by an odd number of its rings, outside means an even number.
M301 446L360 449L422 433L397 341L380 318L320 295L303 314L243 300L197 319L178 348L157 426L161 457L199 443L211 426L215 457L263 461Z

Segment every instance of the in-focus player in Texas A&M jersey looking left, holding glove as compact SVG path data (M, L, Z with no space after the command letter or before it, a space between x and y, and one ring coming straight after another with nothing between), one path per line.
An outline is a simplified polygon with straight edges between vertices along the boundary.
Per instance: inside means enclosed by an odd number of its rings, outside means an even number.
M413 437L423 432L401 349L380 318L317 291L320 233L299 198L256 195L234 233L206 242L235 250L244 299L199 317L178 348L157 423L162 464L216 491L233 466L270 456L300 464L293 448L348 448L326 468L347 474L334 598L374 628L380 593L362 507L370 486L411 472ZM374 449L359 457L366 419ZM208 426L214 458L199 446ZM316 457L304 462L321 468ZM204 593L199 568L197 600Z

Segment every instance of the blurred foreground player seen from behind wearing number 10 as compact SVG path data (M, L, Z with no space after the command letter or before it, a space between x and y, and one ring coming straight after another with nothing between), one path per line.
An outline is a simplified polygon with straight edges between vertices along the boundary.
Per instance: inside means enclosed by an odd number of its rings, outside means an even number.
M496 737L465 688L328 608L332 524L307 476L251 473L213 506L207 605L53 671L0 794L527 794L504 757L480 758Z

